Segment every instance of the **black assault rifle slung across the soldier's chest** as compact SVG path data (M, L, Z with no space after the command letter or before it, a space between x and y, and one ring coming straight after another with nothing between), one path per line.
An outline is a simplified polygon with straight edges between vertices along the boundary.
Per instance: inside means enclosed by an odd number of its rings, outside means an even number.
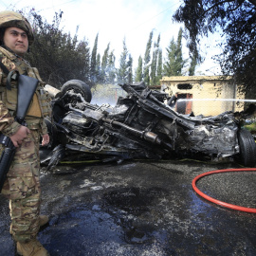
M12 71L11 71L12 72ZM27 110L29 104L33 98L36 91L38 80L34 78L27 77L25 75L18 75L14 77L18 81L18 95L17 95L17 110L15 120L21 125L26 126L25 117L27 115ZM8 89L11 89L10 86ZM0 158L0 192L4 186L7 174L9 172L10 164L15 155L15 147L9 137L4 136L0 133L0 143L5 146L5 150Z

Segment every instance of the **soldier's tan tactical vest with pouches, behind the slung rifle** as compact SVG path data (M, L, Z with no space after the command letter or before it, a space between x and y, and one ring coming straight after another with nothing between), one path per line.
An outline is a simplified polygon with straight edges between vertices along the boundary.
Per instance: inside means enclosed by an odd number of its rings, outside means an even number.
M44 89L45 82L42 81L36 67L31 67L27 61L16 57L7 49L0 46L0 61L10 70L17 70L20 74L35 78L39 81L37 90L33 96L30 106L27 111L28 119L40 119L49 117L51 114L49 96ZM10 114L15 116L17 107L17 82L11 81L11 90L6 87L7 75L0 70L0 101L6 105Z

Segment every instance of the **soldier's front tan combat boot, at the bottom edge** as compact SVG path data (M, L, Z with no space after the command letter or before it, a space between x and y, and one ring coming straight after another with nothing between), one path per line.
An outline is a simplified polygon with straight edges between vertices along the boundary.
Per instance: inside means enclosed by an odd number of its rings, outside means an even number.
M17 242L17 253L22 256L49 256L46 248L37 239L27 243Z

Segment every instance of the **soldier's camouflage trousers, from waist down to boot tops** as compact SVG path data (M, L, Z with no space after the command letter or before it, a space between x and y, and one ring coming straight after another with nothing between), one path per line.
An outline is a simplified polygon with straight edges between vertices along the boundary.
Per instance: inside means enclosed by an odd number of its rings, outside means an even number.
M2 189L2 193L9 198L10 232L13 239L19 242L35 238L40 228L39 138L37 130L30 130L30 134L16 148Z

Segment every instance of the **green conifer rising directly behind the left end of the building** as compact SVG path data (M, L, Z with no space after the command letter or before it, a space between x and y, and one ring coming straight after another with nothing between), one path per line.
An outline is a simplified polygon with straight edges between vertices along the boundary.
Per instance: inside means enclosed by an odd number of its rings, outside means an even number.
M186 64L182 56L182 28L179 29L177 41L171 40L167 50L167 61L164 64L165 76L181 76L182 68Z

